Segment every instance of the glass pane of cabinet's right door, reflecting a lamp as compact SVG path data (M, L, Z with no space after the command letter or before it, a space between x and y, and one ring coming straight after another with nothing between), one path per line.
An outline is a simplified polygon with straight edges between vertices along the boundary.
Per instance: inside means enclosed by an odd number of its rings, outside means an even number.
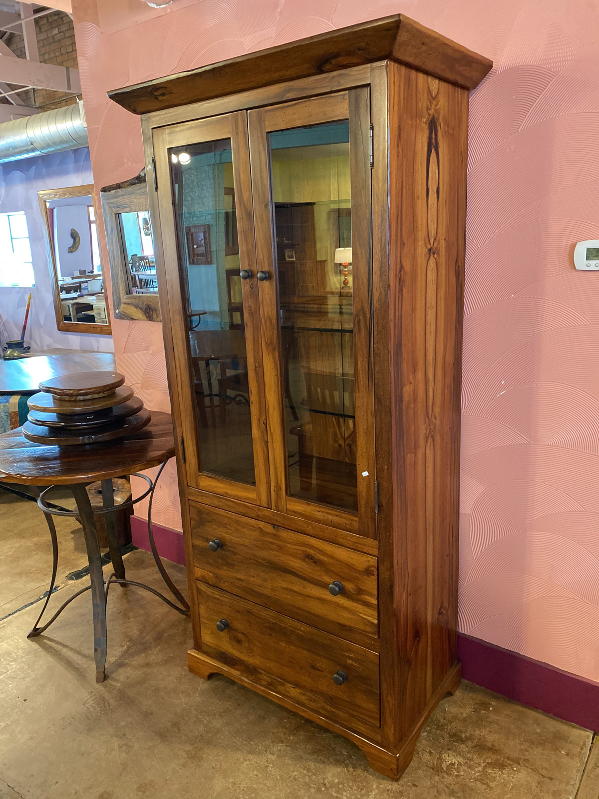
M349 123L270 134L288 491L357 512Z

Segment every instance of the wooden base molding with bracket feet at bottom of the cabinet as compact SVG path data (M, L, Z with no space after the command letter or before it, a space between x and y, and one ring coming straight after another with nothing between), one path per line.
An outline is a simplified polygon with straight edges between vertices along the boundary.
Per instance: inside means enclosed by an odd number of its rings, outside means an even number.
M288 700L288 698L280 696L280 694L274 694L272 691L269 691L263 686L258 685L256 682L252 682L251 680L242 677L236 671L228 669L228 667L224 666L224 664L216 660L212 660L212 658L208 658L206 655L198 652L197 650L188 651L188 669L192 672L192 674L196 674L196 677L201 677L204 680L208 680L210 677L212 677L212 674L223 674L224 677L228 677L235 682L239 682L240 685L250 688L256 691L258 694L262 694L263 696L272 699L274 702L278 702L288 710L293 710L295 713L299 713L305 718L315 721L316 724L330 729L331 732L343 735L343 737L353 741L355 745L362 749L363 753L367 757L368 764L372 769L375 769L375 771L378 771L385 777L389 777L391 780L395 781L399 780L399 777L402 776L408 765L410 765L411 759L414 756L415 745L422 731L422 727L426 724L426 721L430 717L430 714L432 714L435 707L438 705L438 702L440 702L442 698L446 696L446 694L453 695L456 690L458 690L460 682L462 682L462 664L459 661L456 661L454 666L452 666L447 672L445 679L438 686L437 690L435 690L434 694L431 695L429 701L422 710L422 714L420 714L417 721L415 721L415 724L412 725L407 736L401 742L399 751L395 752L385 749L379 744L378 741L368 740L359 733L355 733L351 729L347 729L339 724L335 724L334 721L329 721L327 718L323 718L322 716L319 716L319 714L313 713L311 710L307 710L307 708L296 705L295 702L291 702ZM379 739L380 735L376 735L377 732L379 732L379 730L373 730L373 733L375 733L373 737L377 737Z

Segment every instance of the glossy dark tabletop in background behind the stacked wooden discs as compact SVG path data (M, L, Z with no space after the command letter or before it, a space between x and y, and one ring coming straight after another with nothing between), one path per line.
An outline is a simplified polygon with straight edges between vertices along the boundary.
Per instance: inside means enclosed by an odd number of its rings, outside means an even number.
M90 370L114 370L112 352L68 352L0 360L0 394L34 394L42 380Z

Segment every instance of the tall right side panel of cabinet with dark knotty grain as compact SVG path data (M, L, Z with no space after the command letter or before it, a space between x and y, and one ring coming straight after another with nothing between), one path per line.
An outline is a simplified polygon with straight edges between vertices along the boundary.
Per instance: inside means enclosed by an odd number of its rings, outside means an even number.
M391 422L403 734L456 658L468 93L390 65Z

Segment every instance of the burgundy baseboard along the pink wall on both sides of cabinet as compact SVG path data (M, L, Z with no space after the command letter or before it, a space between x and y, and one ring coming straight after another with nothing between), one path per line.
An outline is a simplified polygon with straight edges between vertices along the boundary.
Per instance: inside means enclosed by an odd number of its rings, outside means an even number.
M161 524L154 524L153 531L161 557L184 566L180 531ZM131 534L136 547L150 551L145 519L131 517ZM599 732L599 683L462 633L458 633L458 658L465 680Z

